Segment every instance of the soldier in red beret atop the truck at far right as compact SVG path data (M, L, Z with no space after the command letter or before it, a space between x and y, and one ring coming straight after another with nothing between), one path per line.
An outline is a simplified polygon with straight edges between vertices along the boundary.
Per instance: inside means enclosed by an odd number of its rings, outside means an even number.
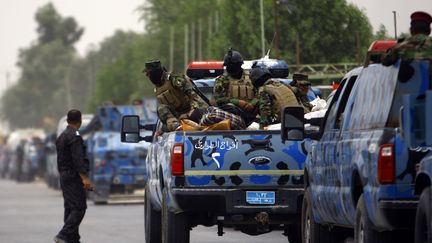
M431 22L432 17L428 13L411 14L411 36L390 49L384 56L383 64L393 65L399 58L403 60L432 58L432 38L429 37Z

